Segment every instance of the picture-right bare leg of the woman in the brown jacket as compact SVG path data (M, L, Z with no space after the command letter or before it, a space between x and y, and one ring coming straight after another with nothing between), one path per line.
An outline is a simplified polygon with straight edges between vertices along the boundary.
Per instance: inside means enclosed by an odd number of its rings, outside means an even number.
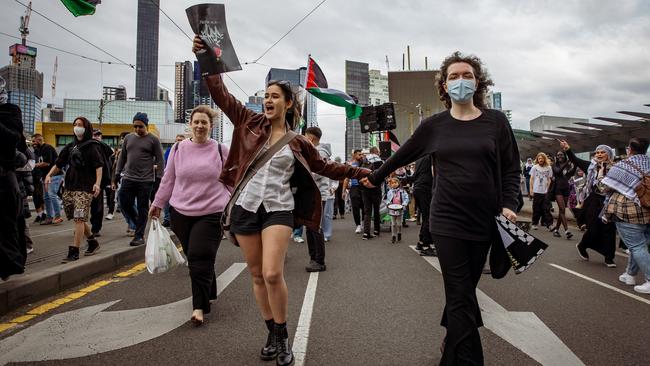
M289 292L284 281L284 259L289 246L291 228L284 225L272 225L262 231L262 275L271 305L273 319L277 324L287 321L287 303Z

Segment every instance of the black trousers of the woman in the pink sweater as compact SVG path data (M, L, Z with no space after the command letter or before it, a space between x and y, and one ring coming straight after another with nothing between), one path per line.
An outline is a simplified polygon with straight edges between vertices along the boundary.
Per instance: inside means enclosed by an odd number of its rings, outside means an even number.
M221 244L221 212L205 216L185 216L169 208L171 229L187 256L192 282L193 309L210 312L210 300L217 298L214 261Z

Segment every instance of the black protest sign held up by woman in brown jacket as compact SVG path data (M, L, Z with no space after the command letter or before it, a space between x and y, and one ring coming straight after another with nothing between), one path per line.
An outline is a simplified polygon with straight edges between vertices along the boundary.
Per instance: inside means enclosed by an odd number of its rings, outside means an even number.
M194 34L205 49L197 52L201 76L241 70L241 64L228 35L223 4L198 4L185 9Z

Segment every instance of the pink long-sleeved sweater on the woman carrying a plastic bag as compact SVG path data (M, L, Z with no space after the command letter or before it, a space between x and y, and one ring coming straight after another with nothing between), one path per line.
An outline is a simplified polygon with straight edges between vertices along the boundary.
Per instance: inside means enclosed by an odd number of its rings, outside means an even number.
M223 212L230 192L219 181L221 168L228 158L228 148L209 139L204 144L190 140L172 149L165 174L160 182L153 206L163 208L169 203L185 216L203 216Z

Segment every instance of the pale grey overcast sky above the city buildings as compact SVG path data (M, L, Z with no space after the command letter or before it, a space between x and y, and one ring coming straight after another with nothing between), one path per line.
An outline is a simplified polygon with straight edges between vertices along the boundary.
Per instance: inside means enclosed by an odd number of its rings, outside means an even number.
M21 0L27 3L27 0ZM228 28L240 61L252 61L320 0L223 1ZM0 31L19 36L24 7L0 0ZM184 9L200 1L161 0L161 7L191 34ZM135 64L136 0L104 0L95 15L74 18L54 0L34 0L33 8L114 56ZM29 41L99 60L115 61L37 14ZM411 68L438 68L453 51L478 55L490 72L513 127L528 129L540 114L591 118L623 117L618 110L648 111L650 104L650 2L580 0L328 0L259 62L229 75L246 94L263 87L269 66L305 66L308 54L319 63L331 88L344 90L345 60L367 62L386 72L401 68L411 46ZM0 35L0 65L10 62L16 40ZM102 85L125 85L135 95L135 71L38 47L37 68L44 74L44 102L52 102L54 58L59 68L54 102L101 97ZM191 42L160 15L158 80L173 92L174 62L194 60ZM240 100L246 95L227 81ZM172 93L170 93L171 96ZM343 110L318 105L324 141L343 155ZM399 121L398 121L399 123ZM227 131L226 131L227 132ZM229 140L229 137L225 137Z

